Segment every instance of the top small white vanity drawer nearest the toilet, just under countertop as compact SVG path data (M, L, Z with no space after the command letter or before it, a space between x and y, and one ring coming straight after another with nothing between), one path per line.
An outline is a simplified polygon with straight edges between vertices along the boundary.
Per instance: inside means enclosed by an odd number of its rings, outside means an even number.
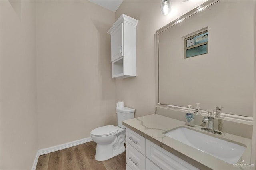
M138 133L126 128L126 142L146 156L146 139Z

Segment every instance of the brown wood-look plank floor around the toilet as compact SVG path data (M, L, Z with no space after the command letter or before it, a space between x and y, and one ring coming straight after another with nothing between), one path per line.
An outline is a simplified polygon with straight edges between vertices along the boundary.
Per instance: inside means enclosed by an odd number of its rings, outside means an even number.
M36 170L125 170L126 152L106 161L94 159L95 142L39 156Z

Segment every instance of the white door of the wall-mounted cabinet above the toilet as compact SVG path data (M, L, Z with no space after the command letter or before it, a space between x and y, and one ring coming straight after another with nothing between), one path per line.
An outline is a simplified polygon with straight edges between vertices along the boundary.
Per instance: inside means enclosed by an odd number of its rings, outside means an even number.
M124 55L123 25L123 23L119 24L111 34L111 61Z

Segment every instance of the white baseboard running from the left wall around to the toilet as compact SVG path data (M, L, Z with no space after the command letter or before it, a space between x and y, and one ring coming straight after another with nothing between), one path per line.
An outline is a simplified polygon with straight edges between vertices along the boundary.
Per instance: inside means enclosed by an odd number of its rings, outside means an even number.
M70 148L72 146L77 146L79 144L83 144L83 143L91 142L91 141L92 141L92 138L88 137L88 138L76 140L76 141L73 141L73 142L68 142L68 143L57 145L57 146L52 146L50 148L39 149L36 153L36 158L34 160L32 170L36 169L36 164L37 164L37 161L38 161L38 158L39 158L40 155L48 154L48 153L55 152L55 151L62 150L62 149L66 149L66 148Z

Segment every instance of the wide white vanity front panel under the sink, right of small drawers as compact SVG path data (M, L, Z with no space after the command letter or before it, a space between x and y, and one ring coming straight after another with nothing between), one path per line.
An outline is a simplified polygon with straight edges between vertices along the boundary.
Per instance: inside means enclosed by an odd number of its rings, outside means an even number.
M153 142L146 140L147 157L162 169L198 170L188 162L164 150Z

